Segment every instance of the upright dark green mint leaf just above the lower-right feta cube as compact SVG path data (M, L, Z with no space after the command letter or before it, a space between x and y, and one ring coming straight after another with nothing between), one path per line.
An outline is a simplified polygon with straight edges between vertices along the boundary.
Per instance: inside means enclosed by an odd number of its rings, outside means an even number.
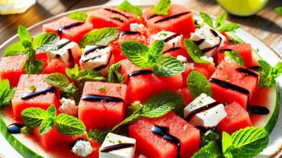
M200 94L205 93L212 97L212 88L201 72L192 71L187 78L188 88L190 89L193 98L197 98Z

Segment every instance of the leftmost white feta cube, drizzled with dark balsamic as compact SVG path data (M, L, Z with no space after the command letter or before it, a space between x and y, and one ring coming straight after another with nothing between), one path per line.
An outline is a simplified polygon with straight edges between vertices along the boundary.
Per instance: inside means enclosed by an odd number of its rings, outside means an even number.
M80 58L80 48L77 43L68 39L61 39L56 48L47 50L49 62L54 58L59 58L66 67L73 67L75 60Z

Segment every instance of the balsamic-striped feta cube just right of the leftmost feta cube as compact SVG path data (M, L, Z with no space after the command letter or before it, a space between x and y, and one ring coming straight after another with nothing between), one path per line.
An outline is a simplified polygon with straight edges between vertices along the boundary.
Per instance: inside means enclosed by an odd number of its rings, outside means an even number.
M85 46L80 58L82 70L97 70L103 76L108 75L109 67L114 63L111 46Z

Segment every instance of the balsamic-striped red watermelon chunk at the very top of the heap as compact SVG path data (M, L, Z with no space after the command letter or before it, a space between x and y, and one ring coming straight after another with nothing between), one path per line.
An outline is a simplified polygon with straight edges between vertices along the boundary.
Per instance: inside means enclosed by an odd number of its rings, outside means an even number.
M150 34L155 34L164 29L177 34L183 34L184 38L189 38L190 34L195 32L193 14L185 6L171 4L168 15L157 15L153 12L152 7L145 8L143 16Z

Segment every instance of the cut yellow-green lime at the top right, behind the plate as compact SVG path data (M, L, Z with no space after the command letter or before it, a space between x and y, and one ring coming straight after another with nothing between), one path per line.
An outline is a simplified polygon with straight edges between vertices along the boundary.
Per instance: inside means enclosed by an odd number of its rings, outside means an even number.
M259 12L268 0L216 0L228 13L238 16L249 16Z

